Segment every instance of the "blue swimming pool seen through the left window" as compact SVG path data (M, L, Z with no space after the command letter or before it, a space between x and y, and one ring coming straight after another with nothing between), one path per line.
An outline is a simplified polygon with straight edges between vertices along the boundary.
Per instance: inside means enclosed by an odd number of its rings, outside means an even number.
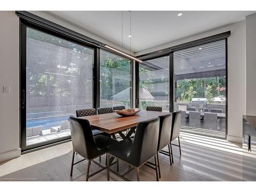
M53 126L60 126L62 121L69 120L70 115L47 117L43 119L27 120L26 127L42 126L41 130L48 130Z

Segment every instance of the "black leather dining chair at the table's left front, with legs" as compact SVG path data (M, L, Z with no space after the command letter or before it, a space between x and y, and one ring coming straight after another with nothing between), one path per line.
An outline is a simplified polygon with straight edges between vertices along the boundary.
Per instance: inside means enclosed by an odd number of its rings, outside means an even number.
M88 160L86 174L86 181L88 181L90 177L107 168L106 166L104 167L98 162L94 161L94 159L106 154L108 145L118 141L104 135L93 136L90 122L87 119L81 119L74 116L70 116L70 131L73 145L70 176L73 175L73 167L75 164ZM84 159L74 163L75 152ZM101 167L101 169L89 175L91 162Z

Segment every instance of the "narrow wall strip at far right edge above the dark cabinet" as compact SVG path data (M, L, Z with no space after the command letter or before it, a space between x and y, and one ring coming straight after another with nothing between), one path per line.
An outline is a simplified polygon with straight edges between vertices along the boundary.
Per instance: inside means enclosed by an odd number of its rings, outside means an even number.
M256 14L246 21L246 115L256 115Z

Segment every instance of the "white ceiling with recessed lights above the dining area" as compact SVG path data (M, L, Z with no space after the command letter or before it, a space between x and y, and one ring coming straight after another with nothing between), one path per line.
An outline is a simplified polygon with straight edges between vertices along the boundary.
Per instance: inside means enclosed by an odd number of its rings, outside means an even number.
M256 11L132 11L131 51L136 53L239 22ZM130 50L129 11L49 11L89 33ZM123 19L121 15L123 14ZM123 29L122 29L123 24Z

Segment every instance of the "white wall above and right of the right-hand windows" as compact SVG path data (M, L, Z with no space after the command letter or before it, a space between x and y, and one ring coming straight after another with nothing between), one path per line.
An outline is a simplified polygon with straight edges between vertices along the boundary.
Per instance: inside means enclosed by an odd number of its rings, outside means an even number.
M255 27L255 25L254 25ZM135 55L157 51L197 40L210 35L231 31L228 37L228 135L227 140L242 142L242 116L246 114L246 58L245 21L210 30L194 36L168 42L162 46L136 52ZM254 44L255 46L255 44ZM255 50L255 49L254 49ZM253 51L254 51L253 50ZM254 53L254 56L256 54ZM254 75L256 78L256 75ZM255 81L256 82L256 81ZM255 92L256 93L256 92ZM254 97L255 99L255 97ZM256 104L256 102L255 102Z

